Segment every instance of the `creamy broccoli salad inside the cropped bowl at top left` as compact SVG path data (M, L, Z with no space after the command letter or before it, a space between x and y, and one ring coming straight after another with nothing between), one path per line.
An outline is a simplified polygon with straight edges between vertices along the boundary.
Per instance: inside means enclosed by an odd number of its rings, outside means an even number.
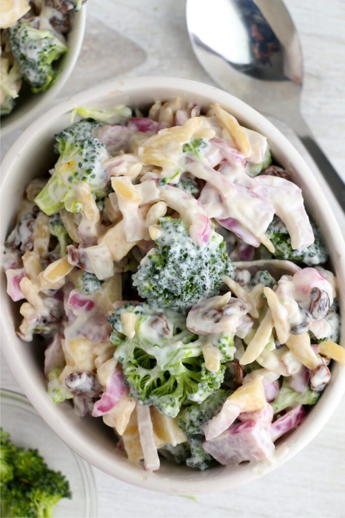
M0 107L10 113L23 81L45 92L56 78L53 62L67 52L73 11L86 0L4 0L1 5Z

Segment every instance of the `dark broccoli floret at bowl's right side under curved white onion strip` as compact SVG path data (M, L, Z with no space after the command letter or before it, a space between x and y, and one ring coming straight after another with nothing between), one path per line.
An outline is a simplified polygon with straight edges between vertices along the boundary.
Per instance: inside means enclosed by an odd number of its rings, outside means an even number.
M279 259L288 259L290 261L302 261L307 266L315 264L323 264L328 260L328 254L321 241L319 229L310 222L313 233L314 242L306 248L297 248L292 250L291 239L286 226L276 216L269 224L266 235L274 244L274 255Z

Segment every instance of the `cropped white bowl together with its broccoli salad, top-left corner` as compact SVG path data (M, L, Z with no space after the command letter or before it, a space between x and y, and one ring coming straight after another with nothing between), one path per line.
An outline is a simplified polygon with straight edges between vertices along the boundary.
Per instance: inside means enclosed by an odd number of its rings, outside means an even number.
M3 136L53 99L77 60L85 26L83 0L2 3L0 108Z

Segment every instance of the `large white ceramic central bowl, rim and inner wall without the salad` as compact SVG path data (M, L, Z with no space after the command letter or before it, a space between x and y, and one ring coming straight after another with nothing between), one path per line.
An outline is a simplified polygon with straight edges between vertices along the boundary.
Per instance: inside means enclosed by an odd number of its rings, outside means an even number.
M83 92L56 106L33 123L7 153L3 162L2 240L14 223L23 190L29 180L43 175L54 161L53 135L70 124L70 110L76 106L104 108L115 104L131 107L149 106L155 99L181 96L203 107L218 102L243 125L268 138L275 159L292 171L294 180L304 192L305 203L321 229L338 277L342 315L345 313L345 245L323 193L308 166L290 142L263 116L241 100L217 88L185 79L145 77L110 81ZM43 419L74 451L111 476L150 490L176 494L211 493L233 488L275 469L302 450L327 422L344 392L345 368L334 364L332 380L318 404L304 423L285 436L276 449L274 464L217 467L196 472L185 466L162 463L161 469L145 472L139 464L131 464L115 448L111 428L101 420L78 418L66 405L55 405L46 394L43 376L43 351L35 343L22 342L14 329L19 323L18 306L14 305L2 285L2 347L7 361L23 391ZM342 319L343 329L345 322ZM339 440L341 440L339 438Z

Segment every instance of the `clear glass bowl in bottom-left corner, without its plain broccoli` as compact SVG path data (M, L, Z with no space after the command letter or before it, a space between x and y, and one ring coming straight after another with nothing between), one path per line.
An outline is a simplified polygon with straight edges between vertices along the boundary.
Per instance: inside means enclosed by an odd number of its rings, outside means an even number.
M54 518L94 518L97 493L91 466L54 434L22 394L1 389L1 426L16 446L37 448L51 469L69 481L72 499L63 498Z

